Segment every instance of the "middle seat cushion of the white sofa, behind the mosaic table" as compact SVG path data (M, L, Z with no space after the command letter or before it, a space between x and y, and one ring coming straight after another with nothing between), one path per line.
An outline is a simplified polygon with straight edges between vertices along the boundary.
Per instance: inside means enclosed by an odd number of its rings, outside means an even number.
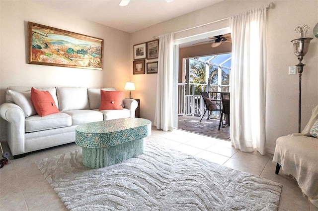
M67 110L64 113L72 116L72 125L103 121L103 114L95 110Z

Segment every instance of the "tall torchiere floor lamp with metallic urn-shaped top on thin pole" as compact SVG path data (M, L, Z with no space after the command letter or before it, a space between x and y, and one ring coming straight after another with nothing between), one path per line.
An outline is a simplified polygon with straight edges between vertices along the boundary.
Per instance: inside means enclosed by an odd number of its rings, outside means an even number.
M299 75L299 99L298 99L298 133L300 133L300 124L301 124L301 102L302 102L302 73L304 66L306 64L302 63L302 60L309 49L309 43L313 38L304 38L304 35L309 29L309 26L303 25L302 27L298 26L295 31L300 33L300 38L292 40L291 42L294 45L294 53L298 57L299 63L296 65Z

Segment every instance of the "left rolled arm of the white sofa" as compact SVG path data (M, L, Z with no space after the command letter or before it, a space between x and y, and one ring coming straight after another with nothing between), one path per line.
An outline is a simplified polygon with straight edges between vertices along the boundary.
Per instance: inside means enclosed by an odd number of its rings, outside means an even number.
M25 118L22 108L13 103L4 103L0 106L0 116L8 122L6 140L12 156L25 153Z

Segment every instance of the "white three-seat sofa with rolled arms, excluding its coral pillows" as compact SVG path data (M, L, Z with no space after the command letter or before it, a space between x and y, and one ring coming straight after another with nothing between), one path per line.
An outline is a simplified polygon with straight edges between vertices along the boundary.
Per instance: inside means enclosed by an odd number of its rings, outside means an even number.
M123 99L122 110L98 110L100 88L45 87L59 113L39 116L31 102L31 87L8 87L6 103L0 106L0 116L6 120L6 140L14 158L26 153L75 141L79 124L117 118L135 117L138 106L133 99ZM114 91L114 88L103 88Z

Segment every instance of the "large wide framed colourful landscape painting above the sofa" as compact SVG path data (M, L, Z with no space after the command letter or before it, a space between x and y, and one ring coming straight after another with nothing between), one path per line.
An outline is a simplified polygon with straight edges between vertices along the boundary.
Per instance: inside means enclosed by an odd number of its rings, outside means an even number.
M103 39L28 22L28 63L103 69Z

